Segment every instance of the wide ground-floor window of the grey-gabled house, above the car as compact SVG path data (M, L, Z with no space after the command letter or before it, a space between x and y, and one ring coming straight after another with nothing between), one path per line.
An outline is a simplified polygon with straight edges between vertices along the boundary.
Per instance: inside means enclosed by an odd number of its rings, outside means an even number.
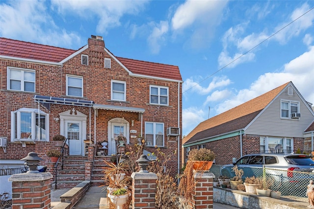
M260 137L261 153L290 153L293 150L293 139L279 137Z

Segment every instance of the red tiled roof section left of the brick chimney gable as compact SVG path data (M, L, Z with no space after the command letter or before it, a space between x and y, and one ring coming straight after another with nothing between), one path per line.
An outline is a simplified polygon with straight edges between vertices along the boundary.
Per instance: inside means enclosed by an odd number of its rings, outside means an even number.
M0 38L0 55L48 62L60 62L75 50Z

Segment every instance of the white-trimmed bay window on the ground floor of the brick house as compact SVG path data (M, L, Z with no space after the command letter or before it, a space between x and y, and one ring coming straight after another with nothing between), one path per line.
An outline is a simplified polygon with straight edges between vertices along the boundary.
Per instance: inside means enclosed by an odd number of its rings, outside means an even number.
M49 115L45 112L40 111L38 114L38 109L31 108L21 108L11 112L12 141L47 141L48 136Z

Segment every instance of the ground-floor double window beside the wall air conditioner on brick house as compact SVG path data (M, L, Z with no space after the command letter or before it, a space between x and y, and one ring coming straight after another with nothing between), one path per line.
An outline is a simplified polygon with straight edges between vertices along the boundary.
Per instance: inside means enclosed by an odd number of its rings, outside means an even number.
M164 124L145 122L145 145L164 146Z

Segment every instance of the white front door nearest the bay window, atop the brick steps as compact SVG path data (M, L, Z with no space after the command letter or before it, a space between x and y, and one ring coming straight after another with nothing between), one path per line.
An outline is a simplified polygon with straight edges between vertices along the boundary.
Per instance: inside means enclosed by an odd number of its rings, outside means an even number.
M66 121L66 137L69 139L69 154L82 155L82 123L81 121Z

